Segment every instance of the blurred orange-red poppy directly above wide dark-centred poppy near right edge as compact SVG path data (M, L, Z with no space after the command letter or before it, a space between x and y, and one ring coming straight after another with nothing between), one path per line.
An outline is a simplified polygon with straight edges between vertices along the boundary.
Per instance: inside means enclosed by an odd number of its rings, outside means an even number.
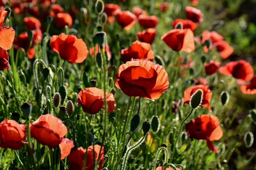
M213 44L217 48L217 51L220 52L222 59L228 58L234 51L234 49L226 41L217 41Z

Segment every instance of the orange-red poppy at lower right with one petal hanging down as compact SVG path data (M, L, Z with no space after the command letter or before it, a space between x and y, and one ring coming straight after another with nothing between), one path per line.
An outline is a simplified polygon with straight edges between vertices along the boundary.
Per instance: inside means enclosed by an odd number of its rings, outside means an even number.
M188 134L188 137L193 139L203 139L207 141L207 146L210 150L215 153L218 153L212 143L212 141L219 140L222 135L222 129L219 126L220 122L218 118L214 115L201 115L198 116L195 120L191 120L186 124L185 129Z

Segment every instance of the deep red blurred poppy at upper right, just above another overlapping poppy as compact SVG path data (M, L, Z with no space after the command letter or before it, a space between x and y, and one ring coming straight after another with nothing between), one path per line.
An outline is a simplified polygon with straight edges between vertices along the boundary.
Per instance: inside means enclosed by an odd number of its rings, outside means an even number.
M188 20L191 20L193 22L202 22L203 21L203 19L202 19L203 13L199 9L186 6L185 11L186 11L186 18Z

